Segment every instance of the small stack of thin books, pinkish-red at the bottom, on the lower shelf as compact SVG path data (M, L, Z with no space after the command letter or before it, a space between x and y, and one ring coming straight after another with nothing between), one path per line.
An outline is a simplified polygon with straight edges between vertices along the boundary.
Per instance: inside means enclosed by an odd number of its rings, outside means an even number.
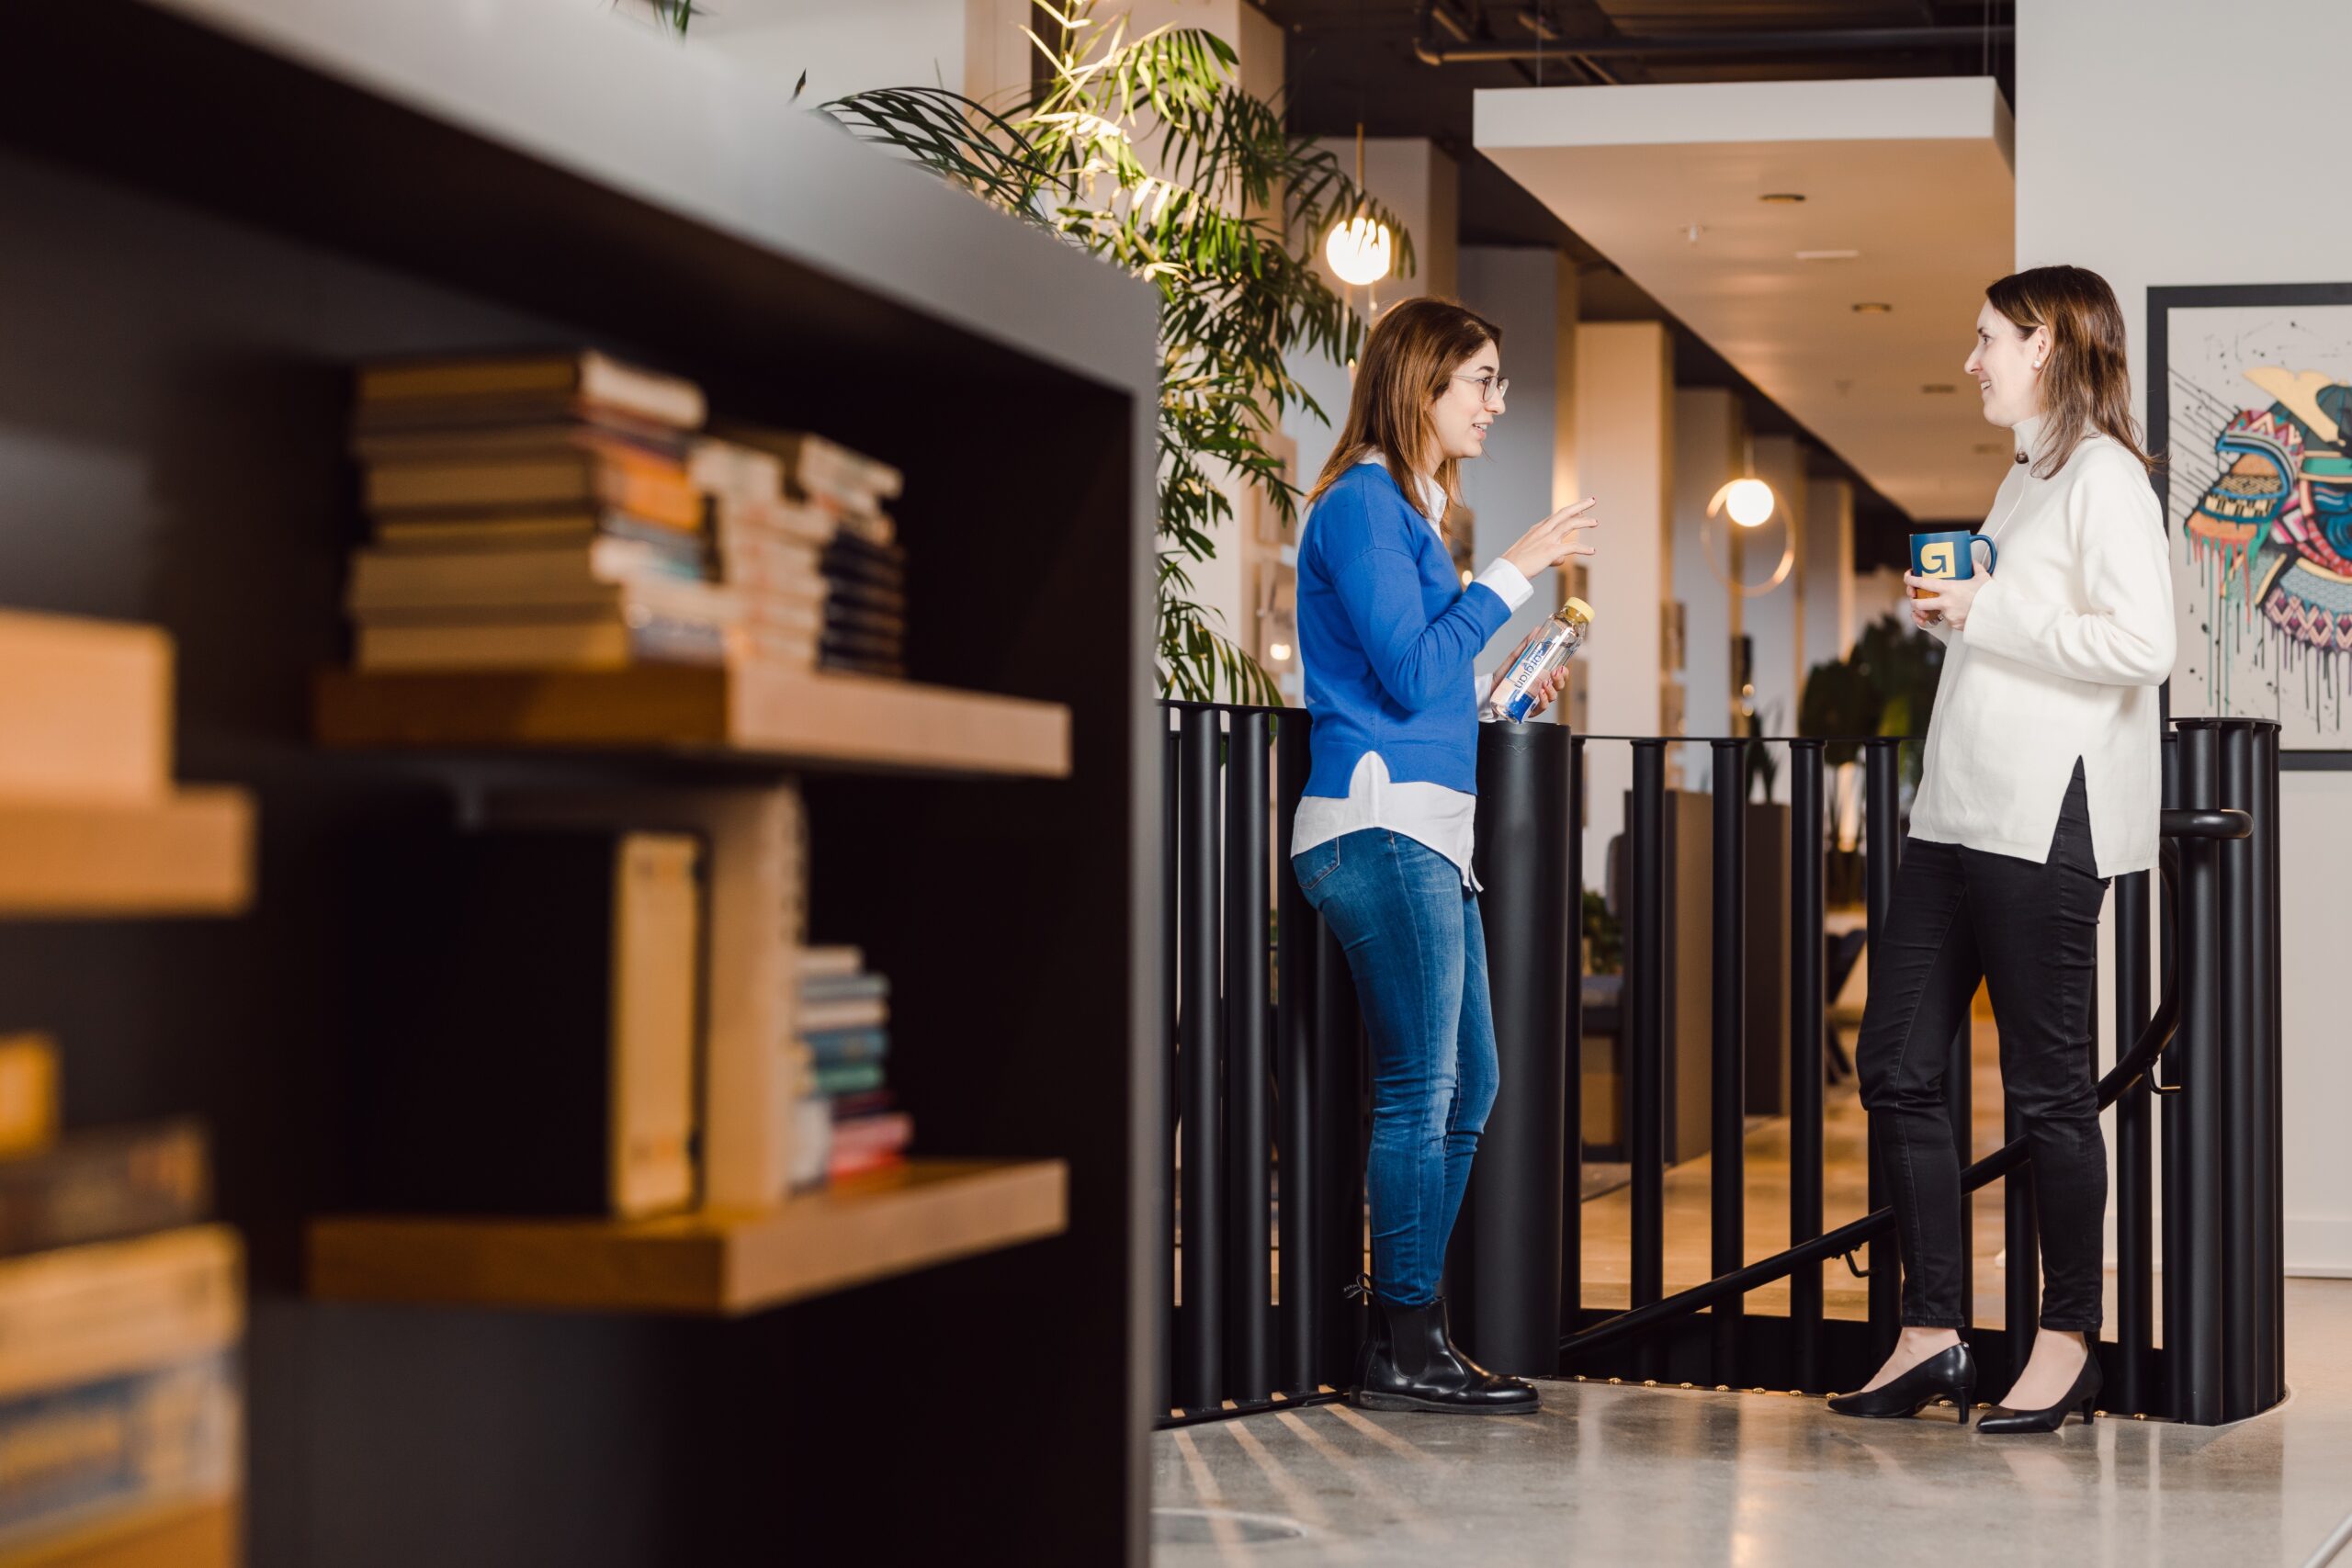
M884 1074L889 978L870 973L856 947L800 954L800 1044L809 1095L826 1107L826 1178L903 1164L915 1121Z

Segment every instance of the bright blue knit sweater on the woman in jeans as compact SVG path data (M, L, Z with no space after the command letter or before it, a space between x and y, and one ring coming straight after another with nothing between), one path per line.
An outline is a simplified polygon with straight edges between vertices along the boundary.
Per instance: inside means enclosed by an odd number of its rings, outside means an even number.
M1308 795L1345 797L1364 752L1397 783L1477 792L1472 661L1510 618L1461 585L1388 468L1357 463L1315 503L1298 548L1298 661L1312 719Z

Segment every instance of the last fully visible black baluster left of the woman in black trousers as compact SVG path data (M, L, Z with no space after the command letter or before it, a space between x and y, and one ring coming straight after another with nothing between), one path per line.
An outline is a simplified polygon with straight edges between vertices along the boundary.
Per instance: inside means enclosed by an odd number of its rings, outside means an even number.
M1788 771L1788 1244L1820 1234L1820 741L1790 741ZM1795 1385L1820 1392L1820 1265L1788 1276Z

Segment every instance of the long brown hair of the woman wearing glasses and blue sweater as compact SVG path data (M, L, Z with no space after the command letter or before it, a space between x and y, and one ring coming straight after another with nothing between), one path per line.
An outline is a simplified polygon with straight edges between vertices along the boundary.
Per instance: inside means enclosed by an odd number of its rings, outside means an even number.
M1503 348L1503 331L1451 299L1402 299L1383 310L1357 360L1348 423L1341 425L1322 477L1308 491L1308 505L1315 505L1343 473L1378 454L1388 477L1414 510L1421 510L1421 484L1414 475L1437 444L1430 402L1454 383L1454 367L1489 343ZM1454 458L1437 461L1437 489L1444 491L1446 508L1461 505L1463 498L1456 468Z

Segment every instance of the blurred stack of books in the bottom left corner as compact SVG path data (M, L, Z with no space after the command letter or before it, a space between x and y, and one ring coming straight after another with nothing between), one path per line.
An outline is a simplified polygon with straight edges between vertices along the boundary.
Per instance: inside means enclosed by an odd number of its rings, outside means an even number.
M56 1138L54 1084L47 1041L0 1041L9 1561L226 1502L242 1455L242 1258L235 1232L202 1222L205 1135L162 1124Z

